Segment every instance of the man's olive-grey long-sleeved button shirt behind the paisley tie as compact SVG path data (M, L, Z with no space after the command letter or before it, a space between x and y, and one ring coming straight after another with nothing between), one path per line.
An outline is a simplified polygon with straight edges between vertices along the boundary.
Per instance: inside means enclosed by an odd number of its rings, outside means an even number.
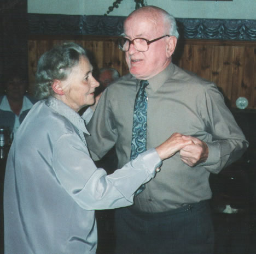
M160 212L210 199L210 172L218 173L245 152L248 142L225 106L223 95L210 81L170 64L148 80L147 149L173 132L207 143L206 162L190 167L179 153L163 162L161 172L135 197L135 209ZM133 106L139 80L126 75L102 94L88 124L92 158L102 158L116 145L119 168L130 160Z

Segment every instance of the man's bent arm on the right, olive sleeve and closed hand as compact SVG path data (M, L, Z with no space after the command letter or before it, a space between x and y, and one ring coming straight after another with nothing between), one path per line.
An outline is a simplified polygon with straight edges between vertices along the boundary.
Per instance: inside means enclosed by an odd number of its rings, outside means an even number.
M193 144L181 149L181 160L191 167L201 165L218 173L242 156L248 142L215 86L206 90L200 103L201 115L213 140L204 142L196 137L185 137L191 138Z

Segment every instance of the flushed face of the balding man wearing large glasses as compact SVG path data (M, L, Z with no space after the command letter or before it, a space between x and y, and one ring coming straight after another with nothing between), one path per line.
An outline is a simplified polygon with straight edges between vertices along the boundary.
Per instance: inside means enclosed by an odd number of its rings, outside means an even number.
M124 24L125 37L133 40L144 38L153 40L166 35L164 23L161 19L155 22L150 14L138 13L127 18ZM167 57L168 37L162 38L149 45L146 52L139 52L134 45L130 45L129 51L125 52L126 63L130 73L136 78L147 80L155 76L171 62Z

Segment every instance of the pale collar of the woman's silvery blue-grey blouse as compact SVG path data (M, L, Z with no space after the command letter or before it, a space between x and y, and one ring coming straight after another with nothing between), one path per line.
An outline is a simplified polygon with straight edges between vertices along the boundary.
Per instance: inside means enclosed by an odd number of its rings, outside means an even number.
M66 117L76 128L90 135L85 127L84 119L64 102L50 96L46 100L45 104L55 110L61 116Z

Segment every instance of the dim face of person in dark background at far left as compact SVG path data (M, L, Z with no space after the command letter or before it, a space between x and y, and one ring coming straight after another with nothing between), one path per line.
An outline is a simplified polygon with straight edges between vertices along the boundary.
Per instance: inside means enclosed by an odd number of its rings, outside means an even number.
M23 100L27 83L21 78L14 77L5 84L7 98L13 101Z

